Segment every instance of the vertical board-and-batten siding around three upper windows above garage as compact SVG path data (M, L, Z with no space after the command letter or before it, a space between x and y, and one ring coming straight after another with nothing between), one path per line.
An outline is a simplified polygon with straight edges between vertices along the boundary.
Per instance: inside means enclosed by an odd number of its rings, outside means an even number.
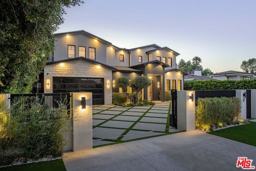
M89 47L95 48L95 60L100 63L106 63L106 47L104 43L98 39L94 39L84 33L76 33L69 35L58 35L55 39L55 50L53 52L54 61L68 59L68 45L75 45L75 57L78 55L78 47L83 46L85 49L85 56L89 58ZM51 62L51 61L49 61Z

